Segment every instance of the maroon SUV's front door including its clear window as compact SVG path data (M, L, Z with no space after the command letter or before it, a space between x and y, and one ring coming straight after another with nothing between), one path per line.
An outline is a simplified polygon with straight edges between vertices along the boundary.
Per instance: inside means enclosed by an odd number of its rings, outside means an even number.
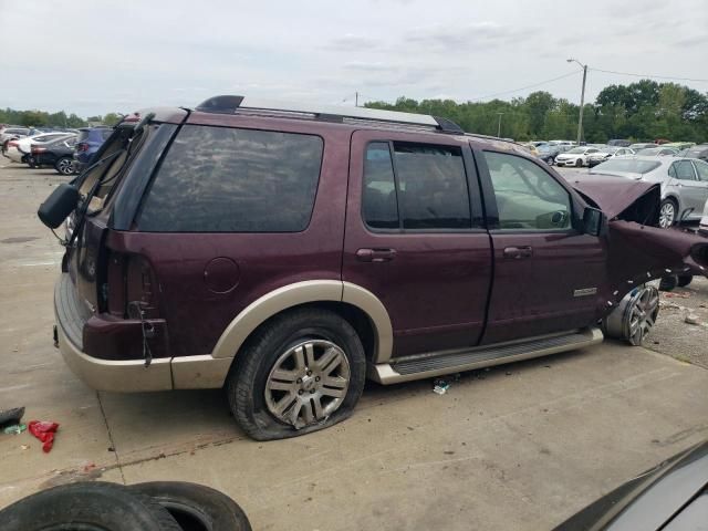
M572 228L571 195L541 164L508 152L475 154L494 249L482 343L593 324L607 303L603 240Z

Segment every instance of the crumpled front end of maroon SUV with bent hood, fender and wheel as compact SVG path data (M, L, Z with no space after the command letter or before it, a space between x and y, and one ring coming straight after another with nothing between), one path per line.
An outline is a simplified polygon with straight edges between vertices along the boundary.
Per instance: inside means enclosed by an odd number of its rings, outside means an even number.
M667 275L708 277L708 238L658 227L658 184L592 176L574 178L571 185L608 220L605 331L641 344L658 314L655 284Z

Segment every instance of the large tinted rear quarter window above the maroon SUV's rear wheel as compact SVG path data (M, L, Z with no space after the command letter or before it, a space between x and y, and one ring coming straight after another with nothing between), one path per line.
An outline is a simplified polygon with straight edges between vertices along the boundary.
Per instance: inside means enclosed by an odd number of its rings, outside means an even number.
M148 232L298 232L312 215L319 136L186 125L148 191Z

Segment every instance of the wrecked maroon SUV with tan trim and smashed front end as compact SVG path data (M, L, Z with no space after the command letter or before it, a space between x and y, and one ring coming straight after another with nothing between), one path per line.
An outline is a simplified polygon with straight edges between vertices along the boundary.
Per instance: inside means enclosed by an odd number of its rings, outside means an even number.
M253 438L330 426L366 377L642 342L652 283L708 266L658 185L572 185L431 116L217 96L124 121L69 215L56 340L96 389L226 386Z

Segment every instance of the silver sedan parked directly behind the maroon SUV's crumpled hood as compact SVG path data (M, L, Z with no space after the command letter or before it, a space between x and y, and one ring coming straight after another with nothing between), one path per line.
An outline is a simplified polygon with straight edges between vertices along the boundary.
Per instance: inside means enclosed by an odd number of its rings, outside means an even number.
M708 163L697 158L613 158L590 169L591 174L614 175L662 184L659 225L699 221L708 201Z

